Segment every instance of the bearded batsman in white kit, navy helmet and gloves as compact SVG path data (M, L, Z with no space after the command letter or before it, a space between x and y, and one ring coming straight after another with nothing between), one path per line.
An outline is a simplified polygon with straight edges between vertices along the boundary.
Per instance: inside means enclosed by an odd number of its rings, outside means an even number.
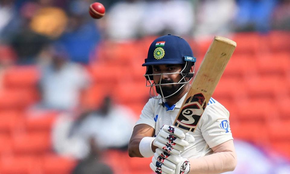
M158 174L223 173L237 165L229 111L215 99L208 101L194 132L173 126L195 62L187 41L169 34L151 43L142 64L147 67L144 76L151 98L136 122L128 150L130 157L152 157L150 168Z

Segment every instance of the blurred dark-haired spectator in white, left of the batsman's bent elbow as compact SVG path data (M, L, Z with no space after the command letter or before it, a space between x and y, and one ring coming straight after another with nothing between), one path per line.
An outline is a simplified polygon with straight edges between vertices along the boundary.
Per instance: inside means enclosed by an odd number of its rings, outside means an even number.
M89 156L92 140L99 150L127 150L134 118L130 109L112 104L106 97L97 111L84 112L75 119L69 114L60 117L53 127L53 146L57 153L79 159Z

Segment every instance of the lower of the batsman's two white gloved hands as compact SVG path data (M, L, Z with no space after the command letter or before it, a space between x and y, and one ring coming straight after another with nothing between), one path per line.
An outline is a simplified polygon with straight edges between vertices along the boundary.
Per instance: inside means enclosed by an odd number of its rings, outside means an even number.
M170 154L161 149L156 149L150 168L158 174L187 174L190 171L187 158Z

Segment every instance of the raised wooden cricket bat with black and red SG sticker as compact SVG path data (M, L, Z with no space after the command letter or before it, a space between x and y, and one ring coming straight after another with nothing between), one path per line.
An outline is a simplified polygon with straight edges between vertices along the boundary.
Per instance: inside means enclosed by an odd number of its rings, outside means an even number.
M194 132L237 43L215 36L182 103L174 126Z

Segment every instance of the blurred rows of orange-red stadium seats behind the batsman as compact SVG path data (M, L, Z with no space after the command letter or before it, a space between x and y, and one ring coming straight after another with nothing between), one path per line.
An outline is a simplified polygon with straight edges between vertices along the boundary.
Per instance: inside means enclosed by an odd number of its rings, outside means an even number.
M286 38L289 35L278 31L263 36L257 33L235 34L233 40L237 41L237 50L213 95L230 111L235 138L283 152L282 155L288 159L290 40ZM149 47L151 40L149 37L128 43L101 44L96 55L98 60L86 67L93 82L82 98L84 105L93 107L110 94L116 102L129 106L139 116L150 97L143 77L146 68L140 65L147 56L145 48ZM194 50L198 50L197 71L211 40L189 42L194 45ZM38 79L36 66L13 66L3 75L0 173L63 174L69 173L76 164L73 159L53 154L50 131L58 113L26 111L39 99ZM104 160L116 173L150 172L150 159L129 158L127 152L114 150L107 153Z

